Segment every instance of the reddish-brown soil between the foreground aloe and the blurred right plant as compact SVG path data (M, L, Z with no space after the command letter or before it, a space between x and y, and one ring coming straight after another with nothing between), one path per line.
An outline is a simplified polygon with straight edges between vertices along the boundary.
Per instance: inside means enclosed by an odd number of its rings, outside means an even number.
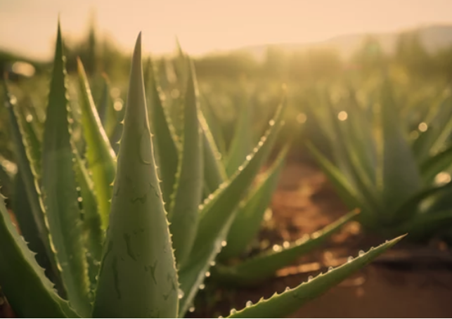
M289 162L283 170L271 208L273 218L260 234L264 246L314 233L348 211L325 175L299 161ZM309 275L338 266L348 256L356 256L359 250L377 246L385 239L366 235L358 223L349 223L322 249L303 256L259 287L211 286L200 293L195 312L189 316L226 317L231 308L240 309L248 300L256 303L261 297L283 292L285 287L296 287ZM451 250L442 242L418 247L402 241L290 318L450 318L451 301Z

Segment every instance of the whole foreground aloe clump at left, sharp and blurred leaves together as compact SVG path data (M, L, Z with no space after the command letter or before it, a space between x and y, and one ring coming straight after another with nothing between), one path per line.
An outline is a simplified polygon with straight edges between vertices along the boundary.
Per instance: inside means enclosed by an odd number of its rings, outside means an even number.
M0 183L17 225L2 200L0 287L20 317L183 318L207 277L220 284L263 282L344 224L373 212L355 200L351 208L363 213L351 211L295 242L239 258L259 233L292 141L261 174L285 129L285 92L251 152L243 111L231 148L222 154L200 108L191 59L181 53L183 98L172 109L152 60L146 59L144 72L142 60L140 34L123 112L115 111L108 94L94 102L82 60L77 80L67 75L59 26L46 108L21 105L4 80L2 108L17 172L2 160ZM105 81L106 92L108 86ZM170 115L174 108L178 123ZM290 315L400 239L224 315Z

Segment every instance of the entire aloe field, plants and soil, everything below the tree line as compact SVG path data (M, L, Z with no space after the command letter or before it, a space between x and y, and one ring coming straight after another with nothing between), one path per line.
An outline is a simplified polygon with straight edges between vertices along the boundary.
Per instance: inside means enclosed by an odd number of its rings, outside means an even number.
M447 70L323 55L297 78L63 35L34 76L1 67L0 316L452 313Z

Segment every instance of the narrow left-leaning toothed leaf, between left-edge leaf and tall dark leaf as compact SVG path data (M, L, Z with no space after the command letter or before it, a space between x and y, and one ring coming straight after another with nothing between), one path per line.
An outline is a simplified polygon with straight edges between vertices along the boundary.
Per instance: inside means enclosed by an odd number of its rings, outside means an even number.
M38 232L41 245L46 249L46 256L51 262L51 273L56 276L56 285L60 294L65 294L63 284L60 282L57 261L55 259L54 250L51 247L51 239L49 237L49 228L46 223L46 214L44 205L41 202L41 190L38 183L37 168L32 160L32 150L28 143L29 139L25 137L26 131L20 126L18 115L16 115L16 98L8 92L8 88L5 85L5 105L8 108L9 119L11 123L11 135L15 145L15 157L18 162L18 170L20 171L20 177L22 178L25 192L27 194L27 202L30 204L32 212L32 221L34 227ZM28 217L27 217L28 219ZM23 223L22 223L23 224ZM25 225L24 225L25 226ZM31 238L30 238L31 240ZM36 244L39 245L39 244ZM40 257L39 257L40 258ZM45 266L45 265L42 265Z

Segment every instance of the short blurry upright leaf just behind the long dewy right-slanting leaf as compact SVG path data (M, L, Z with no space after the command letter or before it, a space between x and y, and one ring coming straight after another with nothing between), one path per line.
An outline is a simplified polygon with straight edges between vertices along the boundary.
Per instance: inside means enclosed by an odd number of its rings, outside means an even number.
M245 97L241 98L242 103L240 103L238 121L234 130L235 134L228 151L226 160L226 173L228 176L232 176L237 171L238 167L245 162L245 157L252 150L252 134L250 134L251 108L246 101Z

